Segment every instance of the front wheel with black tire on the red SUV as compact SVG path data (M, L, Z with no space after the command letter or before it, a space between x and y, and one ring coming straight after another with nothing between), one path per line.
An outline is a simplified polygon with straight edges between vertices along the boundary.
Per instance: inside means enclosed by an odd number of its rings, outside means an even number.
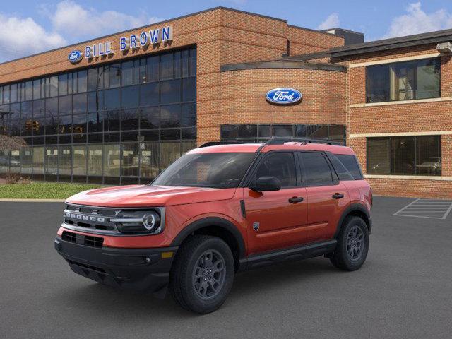
M184 309L207 314L225 302L234 271L234 257L222 239L194 235L177 251L169 275L169 292Z

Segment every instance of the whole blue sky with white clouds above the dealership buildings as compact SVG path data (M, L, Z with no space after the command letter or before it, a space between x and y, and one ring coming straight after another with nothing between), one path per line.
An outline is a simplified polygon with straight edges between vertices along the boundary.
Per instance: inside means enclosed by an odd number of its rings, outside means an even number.
M1 0L0 62L216 6L356 30L366 41L452 28L451 0Z

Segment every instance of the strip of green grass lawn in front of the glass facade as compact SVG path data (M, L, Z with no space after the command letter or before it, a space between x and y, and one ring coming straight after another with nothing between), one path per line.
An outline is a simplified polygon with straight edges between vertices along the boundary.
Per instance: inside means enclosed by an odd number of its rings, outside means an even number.
M29 184L0 184L1 199L66 199L101 185L66 184L61 182L32 182Z

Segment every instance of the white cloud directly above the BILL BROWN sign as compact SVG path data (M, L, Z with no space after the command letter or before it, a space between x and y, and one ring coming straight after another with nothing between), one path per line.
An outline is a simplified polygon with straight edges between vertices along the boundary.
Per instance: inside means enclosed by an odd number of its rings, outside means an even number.
M162 20L145 14L129 16L117 11L101 12L83 8L71 0L59 2L54 13L49 14L54 30L64 32L68 37L96 37Z

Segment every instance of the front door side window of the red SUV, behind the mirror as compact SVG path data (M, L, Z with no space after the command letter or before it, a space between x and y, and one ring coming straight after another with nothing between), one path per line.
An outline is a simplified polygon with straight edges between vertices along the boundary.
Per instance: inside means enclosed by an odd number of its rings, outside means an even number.
M276 177L281 187L297 186L297 171L292 153L271 153L258 165L256 179L260 177Z

